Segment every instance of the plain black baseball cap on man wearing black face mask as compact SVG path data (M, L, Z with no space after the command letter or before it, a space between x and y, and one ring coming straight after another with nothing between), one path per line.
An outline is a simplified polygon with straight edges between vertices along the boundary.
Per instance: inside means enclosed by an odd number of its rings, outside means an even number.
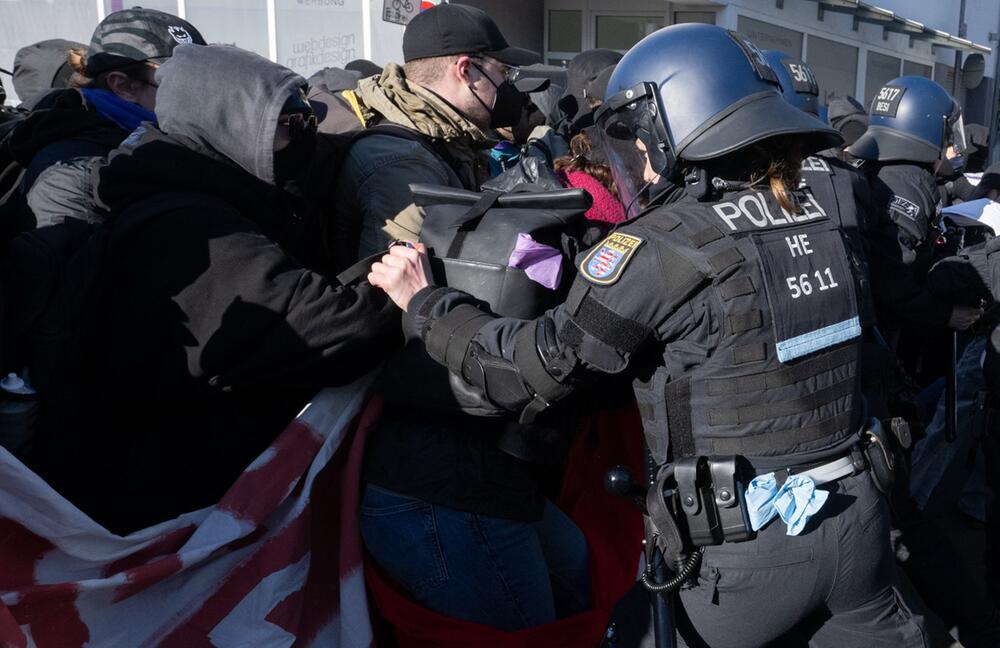
M531 65L535 52L511 47L486 12L476 7L440 4L422 11L403 32L403 62L435 56L481 54L505 65Z

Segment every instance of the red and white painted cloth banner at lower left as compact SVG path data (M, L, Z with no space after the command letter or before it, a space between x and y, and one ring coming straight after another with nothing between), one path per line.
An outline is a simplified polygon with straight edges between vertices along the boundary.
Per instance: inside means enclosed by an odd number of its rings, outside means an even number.
M372 645L369 381L326 389L213 507L121 537L0 448L0 645Z

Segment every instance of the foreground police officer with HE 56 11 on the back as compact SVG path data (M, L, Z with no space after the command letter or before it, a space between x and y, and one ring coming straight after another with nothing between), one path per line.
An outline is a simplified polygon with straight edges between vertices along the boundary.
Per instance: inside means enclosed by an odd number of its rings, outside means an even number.
M629 371L664 470L746 458L757 479L742 506L759 531L704 549L680 590L689 645L764 646L819 617L815 645L924 646L893 589L885 503L854 460L855 269L836 208L797 187L801 154L841 138L780 90L761 52L716 26L634 46L596 118L620 195L641 205L632 198L660 178L684 191L583 255L567 301L541 318L495 318L428 285L421 246L393 248L369 278L431 356L523 419ZM768 509L775 488L797 503L781 519Z

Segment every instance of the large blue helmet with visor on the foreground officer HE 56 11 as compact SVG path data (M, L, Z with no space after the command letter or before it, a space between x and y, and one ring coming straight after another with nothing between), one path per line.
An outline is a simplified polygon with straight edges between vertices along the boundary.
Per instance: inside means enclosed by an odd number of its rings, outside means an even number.
M840 146L840 134L781 96L761 51L715 25L665 27L618 63L595 115L630 215L660 177L778 135L798 135L803 153Z

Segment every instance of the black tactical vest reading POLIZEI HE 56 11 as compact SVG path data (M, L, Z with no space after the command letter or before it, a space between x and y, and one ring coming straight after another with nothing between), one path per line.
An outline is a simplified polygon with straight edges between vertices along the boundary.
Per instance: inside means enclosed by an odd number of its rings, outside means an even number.
M690 333L666 340L664 366L636 385L658 462L665 431L674 458L738 454L758 468L825 459L857 432L859 277L839 215L798 194L800 214L755 189L635 222L669 256L668 281L684 264L710 279L679 309L697 320Z

